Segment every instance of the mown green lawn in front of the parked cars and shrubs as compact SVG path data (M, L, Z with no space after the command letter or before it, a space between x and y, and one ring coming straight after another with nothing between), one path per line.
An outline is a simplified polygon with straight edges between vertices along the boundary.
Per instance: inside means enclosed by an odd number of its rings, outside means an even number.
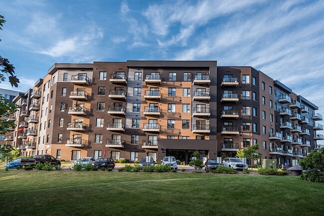
M292 176L0 171L0 216L323 216L324 184Z

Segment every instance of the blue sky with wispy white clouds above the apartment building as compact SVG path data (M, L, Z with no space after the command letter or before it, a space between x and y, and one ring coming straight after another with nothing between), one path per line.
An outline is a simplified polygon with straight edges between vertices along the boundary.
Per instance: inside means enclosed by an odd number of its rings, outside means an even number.
M0 54L26 91L56 62L253 66L324 110L322 0L0 0ZM8 83L1 88L11 89ZM320 111L321 113L321 111Z

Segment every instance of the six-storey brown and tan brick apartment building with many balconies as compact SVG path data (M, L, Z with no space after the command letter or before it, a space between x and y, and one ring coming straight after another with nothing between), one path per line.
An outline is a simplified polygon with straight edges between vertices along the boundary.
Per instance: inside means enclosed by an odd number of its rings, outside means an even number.
M235 157L259 144L263 158L284 164L324 139L316 105L253 67L217 61L57 63L14 102L11 144L22 156L187 163L196 150Z

